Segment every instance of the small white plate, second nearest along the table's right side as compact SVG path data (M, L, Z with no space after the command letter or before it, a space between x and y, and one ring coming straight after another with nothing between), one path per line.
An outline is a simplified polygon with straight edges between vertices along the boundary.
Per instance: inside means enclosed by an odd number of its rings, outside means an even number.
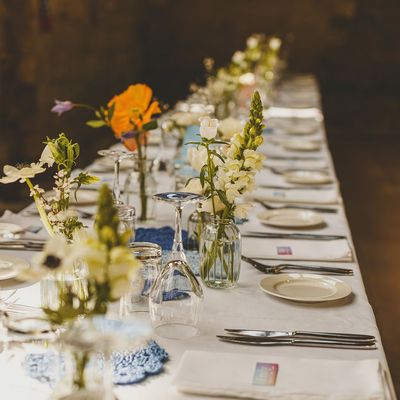
M322 215L314 211L291 208L266 210L257 214L257 217L263 224L280 228L309 228L324 222Z

